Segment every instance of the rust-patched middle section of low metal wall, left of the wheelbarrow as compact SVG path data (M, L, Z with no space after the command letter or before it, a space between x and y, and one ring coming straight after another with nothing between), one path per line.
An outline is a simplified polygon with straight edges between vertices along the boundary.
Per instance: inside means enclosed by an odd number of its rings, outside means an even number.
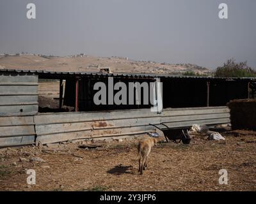
M153 118L153 119L152 119ZM141 120L140 120L141 119ZM150 110L118 110L112 112L57 113L35 115L37 140L60 142L95 136L147 132L149 121L159 121ZM143 121L144 120L144 121ZM145 124L146 121L146 124ZM148 122L147 122L148 121ZM143 123L144 122L144 123ZM52 135L52 137L51 137Z

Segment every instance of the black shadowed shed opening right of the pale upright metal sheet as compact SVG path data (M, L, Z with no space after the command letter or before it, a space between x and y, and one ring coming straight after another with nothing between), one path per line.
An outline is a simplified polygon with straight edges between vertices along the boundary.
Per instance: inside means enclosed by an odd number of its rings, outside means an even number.
M246 80L163 78L161 81L164 108L225 106L232 99L248 98Z

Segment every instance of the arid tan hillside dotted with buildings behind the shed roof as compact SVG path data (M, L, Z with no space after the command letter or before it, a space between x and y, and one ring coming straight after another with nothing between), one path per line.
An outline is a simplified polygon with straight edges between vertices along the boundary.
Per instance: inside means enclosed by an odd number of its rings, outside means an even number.
M132 61L125 57L91 57L76 55L49 57L44 55L1 55L0 69L44 69L51 71L99 71L110 67L115 73L182 74L194 71L198 74L211 72L194 64L167 64L152 61Z

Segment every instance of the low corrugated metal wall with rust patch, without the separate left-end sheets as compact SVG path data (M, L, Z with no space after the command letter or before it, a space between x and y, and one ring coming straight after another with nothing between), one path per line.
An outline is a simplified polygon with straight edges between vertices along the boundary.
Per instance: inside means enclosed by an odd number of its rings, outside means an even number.
M37 140L42 143L83 138L138 135L153 131L149 124L166 122L170 128L192 124L222 124L230 122L227 107L117 110L88 113L45 113L35 115Z

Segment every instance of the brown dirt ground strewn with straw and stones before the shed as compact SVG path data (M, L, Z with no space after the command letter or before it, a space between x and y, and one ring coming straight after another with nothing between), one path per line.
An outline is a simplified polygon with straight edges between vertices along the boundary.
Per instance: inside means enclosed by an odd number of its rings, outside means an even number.
M0 149L0 190L256 191L256 132L222 135L226 140L221 142L196 135L189 145L157 144L143 175L138 173L138 138L97 149L79 148L81 142ZM44 161L30 161L33 157ZM36 185L27 184L28 169L35 170ZM228 172L227 185L218 182L221 169Z

